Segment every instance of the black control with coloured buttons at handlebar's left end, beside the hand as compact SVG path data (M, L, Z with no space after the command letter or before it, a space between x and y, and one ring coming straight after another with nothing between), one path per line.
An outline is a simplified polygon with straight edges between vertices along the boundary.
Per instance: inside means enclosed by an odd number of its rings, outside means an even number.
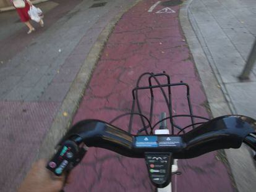
M79 154L80 149L77 143L67 140L61 145L58 152L56 152L48 162L46 168L51 170L55 175L60 176L65 170L69 170L78 164L77 157ZM84 154L85 152L83 155Z

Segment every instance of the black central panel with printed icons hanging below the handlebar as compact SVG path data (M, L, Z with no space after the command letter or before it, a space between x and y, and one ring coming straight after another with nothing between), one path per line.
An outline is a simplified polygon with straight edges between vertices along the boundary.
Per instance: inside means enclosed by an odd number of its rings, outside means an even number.
M158 188L164 188L171 182L171 153L146 152L145 161L151 182Z

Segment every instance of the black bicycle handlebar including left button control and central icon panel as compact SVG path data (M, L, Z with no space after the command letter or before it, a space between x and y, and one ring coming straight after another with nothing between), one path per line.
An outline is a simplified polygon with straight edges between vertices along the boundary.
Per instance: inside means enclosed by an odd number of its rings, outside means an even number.
M241 115L215 118L183 135L132 135L101 120L83 120L62 138L58 152L46 167L55 175L72 169L85 156L86 150L81 147L84 143L88 147L109 149L127 157L145 158L152 183L163 188L171 181L173 159L189 159L218 149L240 148L242 142L256 151L255 134L256 120ZM163 172L151 169L151 162L159 165Z

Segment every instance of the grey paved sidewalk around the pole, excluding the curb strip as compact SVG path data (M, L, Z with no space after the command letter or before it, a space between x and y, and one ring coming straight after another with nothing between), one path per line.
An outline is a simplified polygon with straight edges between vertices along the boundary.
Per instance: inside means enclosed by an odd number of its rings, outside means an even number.
M256 2L194 0L189 13L232 112L256 118L256 67L249 81L237 78L255 41Z

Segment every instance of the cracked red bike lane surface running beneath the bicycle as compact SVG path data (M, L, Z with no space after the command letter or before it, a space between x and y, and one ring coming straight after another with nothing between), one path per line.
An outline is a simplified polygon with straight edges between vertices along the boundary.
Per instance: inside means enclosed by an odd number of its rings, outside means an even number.
M109 122L117 115L130 112L132 88L144 72L165 71L173 83L184 81L190 86L195 115L209 117L206 96L185 37L179 25L179 6L174 12L157 14L148 9L157 1L142 1L126 12L117 23L96 65L80 102L74 122L100 119ZM143 82L145 83L145 82ZM186 95L177 90L173 112L186 114ZM147 94L140 94L147 108ZM156 99L155 114L166 110L161 96ZM156 115L154 120L157 120ZM129 119L114 125L127 130ZM180 121L182 124L182 120ZM140 127L135 123L135 127ZM134 131L132 132L134 133ZM179 160L181 175L173 180L174 191L235 191L229 172L216 158L217 152ZM66 191L155 191L148 177L144 159L131 159L106 149L90 148L74 172Z

